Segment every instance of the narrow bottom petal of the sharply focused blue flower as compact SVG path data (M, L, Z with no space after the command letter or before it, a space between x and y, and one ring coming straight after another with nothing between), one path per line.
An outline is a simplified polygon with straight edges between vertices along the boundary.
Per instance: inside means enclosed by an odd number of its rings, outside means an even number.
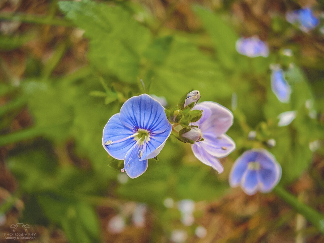
M135 145L125 157L124 170L130 178L136 178L142 175L148 166L148 160L139 161L141 146Z

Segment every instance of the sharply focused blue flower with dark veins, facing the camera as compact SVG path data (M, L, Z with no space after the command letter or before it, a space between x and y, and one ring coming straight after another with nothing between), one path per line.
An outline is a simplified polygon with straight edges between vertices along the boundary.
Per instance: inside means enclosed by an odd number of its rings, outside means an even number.
M107 122L102 145L111 157L125 160L122 172L136 178L146 171L148 159L160 153L171 129L158 101L147 94L134 96Z

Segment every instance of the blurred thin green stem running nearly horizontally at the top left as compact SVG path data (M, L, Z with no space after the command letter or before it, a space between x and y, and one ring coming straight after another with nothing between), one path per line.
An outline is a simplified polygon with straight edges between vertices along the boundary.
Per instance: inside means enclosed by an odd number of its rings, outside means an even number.
M57 25L65 27L74 27L75 25L64 18L52 18L51 16L30 15L23 13L0 13L0 20L20 21L33 24Z

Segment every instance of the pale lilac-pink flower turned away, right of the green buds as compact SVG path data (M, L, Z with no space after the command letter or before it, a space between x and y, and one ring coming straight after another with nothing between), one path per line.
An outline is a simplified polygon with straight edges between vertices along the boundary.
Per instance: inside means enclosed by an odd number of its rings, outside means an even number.
M204 101L196 104L193 110L202 110L202 117L191 126L198 126L202 141L191 145L193 154L204 164L222 173L224 168L218 158L223 158L235 149L234 141L225 133L233 124L233 114L218 103Z

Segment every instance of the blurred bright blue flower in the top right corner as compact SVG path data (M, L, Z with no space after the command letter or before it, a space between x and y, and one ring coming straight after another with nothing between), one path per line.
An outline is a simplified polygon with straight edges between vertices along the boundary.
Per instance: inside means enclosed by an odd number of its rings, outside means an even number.
M314 16L310 8L301 8L287 12L286 19L289 23L292 24L298 22L300 29L304 31L314 29L319 23L318 19Z

